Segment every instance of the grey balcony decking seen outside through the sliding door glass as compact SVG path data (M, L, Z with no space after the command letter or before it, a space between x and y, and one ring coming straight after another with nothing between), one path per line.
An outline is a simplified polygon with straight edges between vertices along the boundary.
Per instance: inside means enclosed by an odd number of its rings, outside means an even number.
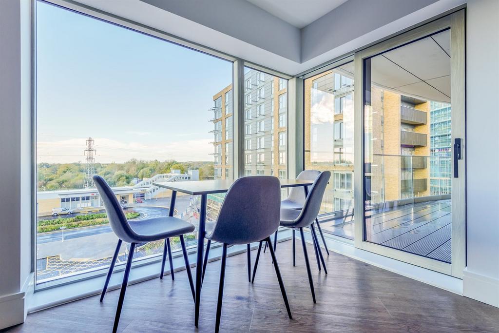
M367 241L451 262L451 200L384 206L367 215ZM334 235L353 239L352 217L327 221L321 226Z

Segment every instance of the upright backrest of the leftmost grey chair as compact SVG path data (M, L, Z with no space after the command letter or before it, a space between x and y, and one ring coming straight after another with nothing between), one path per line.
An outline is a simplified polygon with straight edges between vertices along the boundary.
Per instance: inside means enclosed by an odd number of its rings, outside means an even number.
M101 176L94 175L93 180L95 187L104 202L106 208L107 218L113 232L124 242L133 243L135 232L130 228L125 213L121 209L120 203L116 198L113 190Z

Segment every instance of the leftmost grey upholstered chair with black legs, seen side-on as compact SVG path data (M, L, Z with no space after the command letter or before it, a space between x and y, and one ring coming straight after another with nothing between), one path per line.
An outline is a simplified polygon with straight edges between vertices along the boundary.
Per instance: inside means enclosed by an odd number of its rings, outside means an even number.
M123 307L123 300L125 298L126 287L128 284L128 276L130 275L130 269L132 267L132 260L135 248L137 245L141 245L148 242L159 241L162 239L169 239L171 237L180 237L180 244L182 245L182 252L184 254L184 260L186 264L187 276L189 278L189 283L191 285L191 292L194 299L194 283L192 281L191 266L189 265L189 258L187 257L187 251L184 241L184 234L191 233L194 231L195 227L184 220L175 217L161 217L161 218L151 218L144 219L140 221L128 221L121 209L120 203L116 198L109 185L106 183L104 178L100 176L93 176L93 180L97 190L99 191L102 201L104 202L104 207L106 208L107 217L109 219L109 224L113 229L113 232L118 236L118 245L116 246L116 251L109 267L107 273L106 282L102 290L100 302L104 299L104 295L109 284L109 279L113 272L114 264L116 262L116 257L118 256L119 249L122 242L130 243L130 251L128 253L128 259L125 267L125 274L123 276L123 283L121 285L120 296L118 299L118 307L116 309L116 316L114 318L113 332L118 329L118 323L121 315L121 308ZM166 249L166 243L165 243ZM169 249L169 247L168 247ZM164 268L165 255L163 255L163 267ZM173 270L172 270L173 272ZM161 274L163 276L163 272Z

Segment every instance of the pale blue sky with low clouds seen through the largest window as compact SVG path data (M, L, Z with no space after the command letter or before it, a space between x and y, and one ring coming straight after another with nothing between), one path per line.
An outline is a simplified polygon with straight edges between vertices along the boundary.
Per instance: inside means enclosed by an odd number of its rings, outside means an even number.
M213 95L232 62L37 3L38 161L212 160Z

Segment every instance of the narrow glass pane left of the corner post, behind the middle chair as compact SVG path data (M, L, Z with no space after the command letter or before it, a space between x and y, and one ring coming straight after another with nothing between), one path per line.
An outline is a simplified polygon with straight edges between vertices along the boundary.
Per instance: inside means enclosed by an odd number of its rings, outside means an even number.
M287 178L287 80L245 67L245 81L245 175Z

